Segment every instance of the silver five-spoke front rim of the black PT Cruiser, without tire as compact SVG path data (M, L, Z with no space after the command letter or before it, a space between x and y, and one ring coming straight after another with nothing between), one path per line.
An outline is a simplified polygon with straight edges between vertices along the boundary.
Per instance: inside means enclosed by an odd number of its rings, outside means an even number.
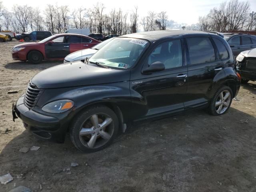
M82 144L88 148L99 148L106 144L114 133L114 123L108 114L94 114L87 118L79 131Z

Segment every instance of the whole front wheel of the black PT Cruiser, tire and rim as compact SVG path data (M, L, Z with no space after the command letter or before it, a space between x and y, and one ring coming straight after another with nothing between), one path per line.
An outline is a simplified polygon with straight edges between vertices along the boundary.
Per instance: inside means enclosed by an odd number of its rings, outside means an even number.
M114 111L104 105L86 108L70 124L72 143L78 150L86 153L102 150L114 140L117 133L118 118Z

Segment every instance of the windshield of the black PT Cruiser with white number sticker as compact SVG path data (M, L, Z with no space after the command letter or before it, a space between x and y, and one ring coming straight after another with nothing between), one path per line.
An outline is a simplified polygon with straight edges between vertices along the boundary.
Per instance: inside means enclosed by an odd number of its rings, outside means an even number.
M132 68L149 42L134 38L114 38L106 46L102 47L89 60L109 68Z

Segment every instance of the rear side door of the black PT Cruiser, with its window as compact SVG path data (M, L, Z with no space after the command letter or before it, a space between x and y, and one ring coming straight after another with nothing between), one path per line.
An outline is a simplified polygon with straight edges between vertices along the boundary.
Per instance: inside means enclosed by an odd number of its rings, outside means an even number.
M186 37L188 53L188 86L185 109L208 104L208 90L214 77L223 69L218 50L208 36Z

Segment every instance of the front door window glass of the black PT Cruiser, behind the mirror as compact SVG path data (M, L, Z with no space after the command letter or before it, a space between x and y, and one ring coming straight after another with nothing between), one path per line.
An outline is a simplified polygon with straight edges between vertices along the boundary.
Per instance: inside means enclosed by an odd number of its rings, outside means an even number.
M148 57L148 66L154 62L162 62L165 69L182 66L182 47L180 40L163 42L156 46Z

